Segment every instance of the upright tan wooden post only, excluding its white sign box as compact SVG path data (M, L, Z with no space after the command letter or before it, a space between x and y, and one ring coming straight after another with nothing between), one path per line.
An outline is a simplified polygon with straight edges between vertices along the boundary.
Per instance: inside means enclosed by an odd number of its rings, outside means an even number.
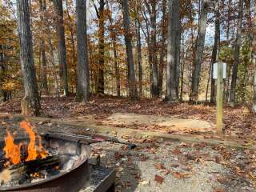
M218 80L217 80L217 132L222 134L223 121L223 63L218 62Z

